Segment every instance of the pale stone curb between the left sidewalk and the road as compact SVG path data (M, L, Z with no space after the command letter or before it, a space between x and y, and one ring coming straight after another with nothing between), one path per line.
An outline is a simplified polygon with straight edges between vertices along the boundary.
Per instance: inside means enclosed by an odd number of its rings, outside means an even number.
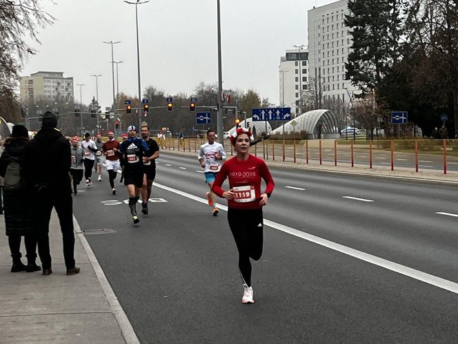
M105 295L106 300L108 301L108 305L110 305L111 312L115 315L116 321L119 326L119 330L124 338L124 341L128 344L139 344L139 339L137 338L137 334L135 334L134 328L130 323L126 313L121 307L119 300L113 292L113 289L108 282L105 274L103 273L103 269L101 268L99 261L97 260L94 251L92 251L88 240L84 236L83 231L81 231L81 227L79 227L77 218L73 215L73 225L74 231L77 233L77 238L81 242L86 255L88 256L88 260L92 269L94 269L95 275L97 276L97 280L99 280L100 286L103 290L103 294Z

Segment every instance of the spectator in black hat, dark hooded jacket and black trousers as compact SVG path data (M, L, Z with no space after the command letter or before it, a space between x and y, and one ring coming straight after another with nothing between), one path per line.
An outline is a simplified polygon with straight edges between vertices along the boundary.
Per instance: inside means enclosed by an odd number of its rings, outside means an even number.
M52 274L49 247L49 222L54 207L59 216L63 239L63 258L67 274L79 273L74 265L73 209L70 184L70 144L57 127L57 117L46 111L41 129L24 148L24 175L30 182L34 224L38 239L38 254L43 275Z

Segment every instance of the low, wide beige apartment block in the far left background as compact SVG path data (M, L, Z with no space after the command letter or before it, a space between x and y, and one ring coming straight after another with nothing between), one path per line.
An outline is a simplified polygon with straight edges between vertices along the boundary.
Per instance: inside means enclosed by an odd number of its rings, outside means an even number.
M73 101L73 78L62 72L37 72L21 77L21 99L34 102L39 99L52 102Z

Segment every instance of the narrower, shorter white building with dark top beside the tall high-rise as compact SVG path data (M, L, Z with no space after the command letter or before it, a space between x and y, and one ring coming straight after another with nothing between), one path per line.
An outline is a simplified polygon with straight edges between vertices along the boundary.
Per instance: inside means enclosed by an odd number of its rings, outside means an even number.
M308 88L308 50L307 48L286 50L280 58L279 66L279 104L292 108L299 114L300 93Z

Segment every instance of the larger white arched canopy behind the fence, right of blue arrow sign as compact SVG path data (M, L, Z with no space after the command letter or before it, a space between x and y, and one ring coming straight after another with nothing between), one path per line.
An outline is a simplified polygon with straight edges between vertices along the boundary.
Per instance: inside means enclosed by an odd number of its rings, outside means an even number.
M297 123L295 128L292 127L292 121ZM319 124L321 124L321 133ZM295 131L296 133L306 131L308 139L319 138L320 134L323 138L340 137L339 119L335 113L326 109L312 110L303 113L295 119L285 123L284 128L285 133L292 133L292 131ZM270 133L283 134L283 125L280 125Z

